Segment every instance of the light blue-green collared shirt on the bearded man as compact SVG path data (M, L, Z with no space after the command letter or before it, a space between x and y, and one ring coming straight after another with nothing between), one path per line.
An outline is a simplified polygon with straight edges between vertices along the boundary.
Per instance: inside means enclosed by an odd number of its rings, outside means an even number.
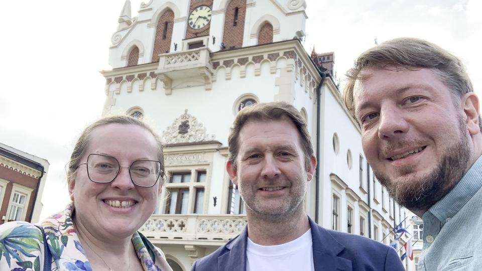
M482 156L422 219L418 270L482 270Z

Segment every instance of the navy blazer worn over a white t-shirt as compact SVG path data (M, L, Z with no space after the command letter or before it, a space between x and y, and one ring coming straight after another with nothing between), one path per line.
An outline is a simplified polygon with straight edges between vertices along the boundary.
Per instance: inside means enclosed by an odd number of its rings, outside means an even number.
M326 230L308 218L317 271L405 270L395 249L367 237ZM192 265L191 271L246 271L248 228Z

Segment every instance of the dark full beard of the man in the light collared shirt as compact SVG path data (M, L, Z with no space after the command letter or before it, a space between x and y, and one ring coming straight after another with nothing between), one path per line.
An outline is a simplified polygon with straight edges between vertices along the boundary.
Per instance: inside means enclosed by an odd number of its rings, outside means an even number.
M463 118L459 119L459 141L446 149L438 165L418 180L394 181L374 171L380 183L399 205L409 210L426 211L449 193L468 170L472 150ZM405 169L412 172L410 169Z

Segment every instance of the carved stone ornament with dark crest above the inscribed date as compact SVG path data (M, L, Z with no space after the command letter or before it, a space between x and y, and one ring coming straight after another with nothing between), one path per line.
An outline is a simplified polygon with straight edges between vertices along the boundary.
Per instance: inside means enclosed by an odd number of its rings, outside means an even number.
M164 144L191 143L214 140L214 134L207 134L206 128L195 117L187 113L174 120L162 134Z

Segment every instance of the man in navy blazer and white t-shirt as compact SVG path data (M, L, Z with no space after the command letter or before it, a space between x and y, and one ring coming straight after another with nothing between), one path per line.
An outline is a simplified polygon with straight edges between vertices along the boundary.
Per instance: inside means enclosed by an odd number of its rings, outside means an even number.
M326 230L306 215L303 199L316 158L295 107L272 102L244 108L228 147L226 169L246 203L248 226L192 270L404 270L393 248Z

